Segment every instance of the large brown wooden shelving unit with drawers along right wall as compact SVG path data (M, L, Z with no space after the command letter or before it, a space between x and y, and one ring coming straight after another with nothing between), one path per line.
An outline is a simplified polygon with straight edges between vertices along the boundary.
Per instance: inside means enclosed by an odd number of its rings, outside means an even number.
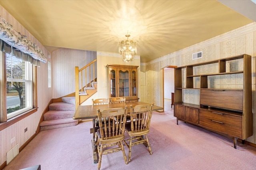
M230 63L235 63L241 70L230 71ZM218 67L216 73L200 73L198 70L209 66ZM182 86L182 72L186 69L186 83ZM214 69L212 69L214 70ZM223 76L236 76L242 84L236 82L225 88L225 85L216 85ZM197 82L199 81L199 87ZM216 81L216 82L215 82ZM213 85L214 84L214 85ZM184 89L200 91L199 105L182 101ZM197 63L177 67L175 69L175 103L174 116L178 121L185 121L208 130L232 136L234 148L237 139L252 136L252 71L251 56L238 55L214 61Z

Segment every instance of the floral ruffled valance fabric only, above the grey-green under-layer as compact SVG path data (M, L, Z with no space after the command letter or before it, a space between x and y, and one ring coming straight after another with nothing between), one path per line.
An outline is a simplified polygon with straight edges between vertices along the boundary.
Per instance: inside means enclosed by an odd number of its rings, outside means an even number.
M2 16L0 16L0 39L21 52L30 55L34 59L42 61L42 63L47 62L47 58L44 56L44 51L42 51L42 49L35 43L28 40L26 36L14 30L12 25L6 22Z

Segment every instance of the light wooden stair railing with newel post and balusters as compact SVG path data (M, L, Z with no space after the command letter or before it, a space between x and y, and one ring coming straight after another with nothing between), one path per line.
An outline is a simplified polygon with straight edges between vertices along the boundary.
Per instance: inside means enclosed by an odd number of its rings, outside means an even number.
M92 87L92 82L95 81L97 73L95 71L97 59L94 59L92 62L88 63L81 69L75 67L75 95L76 95L76 108L79 106L79 94L85 93L84 87ZM93 73L92 73L93 72Z

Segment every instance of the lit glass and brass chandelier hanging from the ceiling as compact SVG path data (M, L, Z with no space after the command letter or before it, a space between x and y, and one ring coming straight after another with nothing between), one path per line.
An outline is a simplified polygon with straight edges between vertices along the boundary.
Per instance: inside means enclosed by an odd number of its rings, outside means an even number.
M128 40L130 37L128 32L125 36L127 37L127 40L122 40L119 42L118 51L122 55L122 60L129 62L134 59L134 54L137 53L137 44L132 40Z

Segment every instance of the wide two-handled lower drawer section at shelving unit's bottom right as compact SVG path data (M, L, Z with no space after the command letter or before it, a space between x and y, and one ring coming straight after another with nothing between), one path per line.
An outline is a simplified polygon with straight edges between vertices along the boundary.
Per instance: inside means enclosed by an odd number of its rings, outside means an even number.
M199 125L242 138L242 117L226 115L219 112L199 111Z

